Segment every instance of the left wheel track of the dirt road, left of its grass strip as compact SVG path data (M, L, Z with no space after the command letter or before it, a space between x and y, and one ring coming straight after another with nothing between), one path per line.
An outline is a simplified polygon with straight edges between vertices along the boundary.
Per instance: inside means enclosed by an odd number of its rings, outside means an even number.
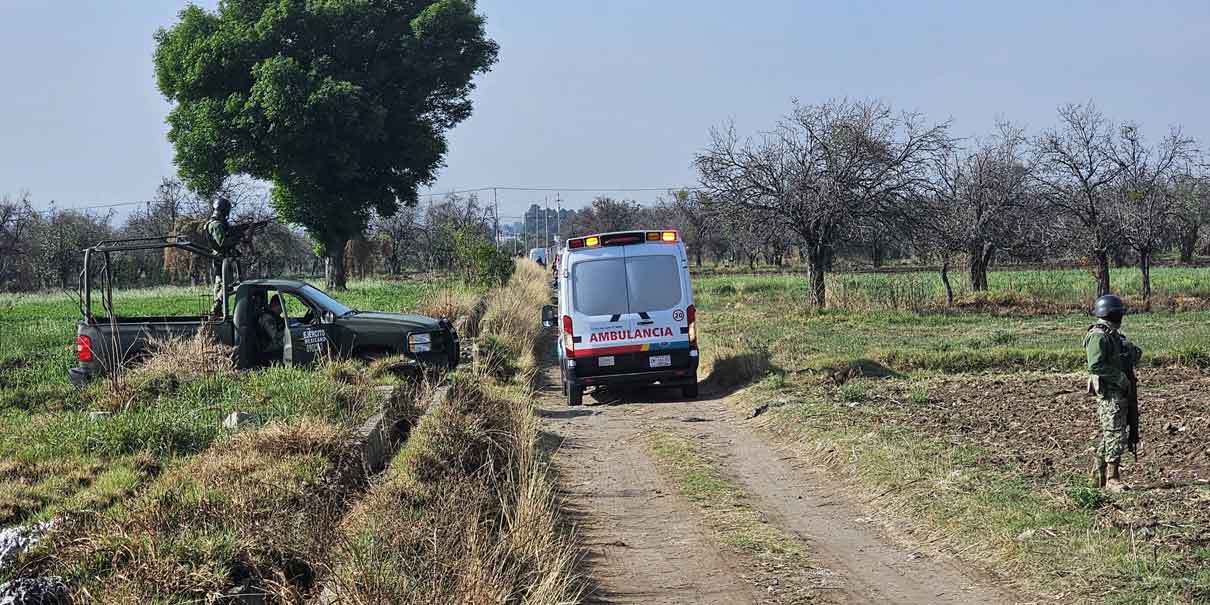
M718 548L644 453L636 419L569 408L558 384L558 370L548 373L538 413L560 442L554 461L595 584L588 603L756 603L742 563Z

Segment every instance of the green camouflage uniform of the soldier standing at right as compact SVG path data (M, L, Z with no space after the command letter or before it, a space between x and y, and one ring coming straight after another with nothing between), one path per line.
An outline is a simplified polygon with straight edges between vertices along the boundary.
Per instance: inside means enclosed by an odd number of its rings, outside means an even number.
M1105 462L1116 463L1122 460L1129 439L1127 414L1135 386L1128 373L1139 364L1142 350L1102 319L1088 328L1084 351L1088 353L1088 390L1096 396L1100 424L1096 455Z

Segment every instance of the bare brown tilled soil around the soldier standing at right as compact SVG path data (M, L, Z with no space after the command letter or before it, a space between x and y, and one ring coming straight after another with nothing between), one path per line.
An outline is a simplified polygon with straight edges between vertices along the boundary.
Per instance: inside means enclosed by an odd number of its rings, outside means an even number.
M1140 371L1139 459L1127 454L1134 490L1100 509L1107 524L1151 530L1192 551L1210 546L1210 375L1191 369ZM911 385L880 382L875 404L908 410L901 421L956 445L987 453L983 463L1016 468L1042 486L1064 489L1090 474L1095 403L1077 374L945 378L912 404Z

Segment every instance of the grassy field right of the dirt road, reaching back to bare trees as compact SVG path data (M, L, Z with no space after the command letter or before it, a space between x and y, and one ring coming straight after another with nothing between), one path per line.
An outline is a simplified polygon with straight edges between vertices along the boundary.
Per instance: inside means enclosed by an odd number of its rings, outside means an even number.
M1169 296L1195 298L1191 306L1204 309L1210 278L1200 271L1165 270L1156 277L1171 288ZM806 460L849 477L910 540L957 552L1024 589L1064 601L1210 599L1204 515L1210 489L1177 483L1111 499L1088 486L1087 446L1073 444L1083 438L1059 426L1091 414L1078 394L1079 340L1090 321L1053 305L1085 300L1064 290L1074 282L1066 273L1039 276L1045 288L1018 281L1009 290L1008 280L1022 276L992 273L991 296L1014 300L1010 309L946 312L935 298L917 306L900 298L898 307L882 299L883 280L895 277L874 276L860 296L849 293L848 304L828 311L803 304L801 277L697 280L703 375L724 386L757 380L730 401L744 408L770 404L760 421L766 430ZM1035 309L1050 315L1035 315ZM1205 311L1156 311L1130 317L1128 332L1151 365L1205 368L1208 319ZM1062 392L1076 393L1074 399L1031 392L1068 382ZM1010 413L1014 402L1001 401L1009 392L1031 398L1020 415ZM1083 414L1067 409L1072 405ZM980 426L987 421L1003 426ZM945 422L955 426L934 426ZM1145 427L1150 437L1141 465L1148 463L1147 448L1163 446L1191 451L1166 463L1203 468L1197 443L1181 449L1182 440L1199 437L1183 432L1183 425L1163 431ZM1025 442L1054 443L1066 457L1036 472L1037 461L1016 454Z

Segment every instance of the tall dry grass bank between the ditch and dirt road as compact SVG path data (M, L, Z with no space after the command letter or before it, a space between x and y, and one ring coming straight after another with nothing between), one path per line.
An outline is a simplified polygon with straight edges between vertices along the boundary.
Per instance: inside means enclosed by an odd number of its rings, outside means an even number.
M453 376L345 519L340 603L574 603L577 551L538 448L534 385L547 273L520 261L479 324L486 359Z

